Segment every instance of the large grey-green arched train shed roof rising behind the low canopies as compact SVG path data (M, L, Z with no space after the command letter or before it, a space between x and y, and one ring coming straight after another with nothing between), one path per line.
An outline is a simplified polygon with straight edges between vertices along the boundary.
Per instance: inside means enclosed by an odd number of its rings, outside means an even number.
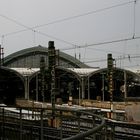
M43 46L36 46L27 48L8 55L4 58L4 66L6 67L31 67L39 68L40 57L45 56L47 60L48 48ZM60 66L88 68L89 66L80 62L78 59L59 51ZM46 61L47 62L47 61Z

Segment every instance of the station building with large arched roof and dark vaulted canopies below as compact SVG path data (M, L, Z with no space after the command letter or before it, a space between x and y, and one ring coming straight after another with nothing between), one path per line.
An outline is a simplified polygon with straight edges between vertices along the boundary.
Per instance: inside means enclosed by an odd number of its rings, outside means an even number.
M41 58L44 58L44 79ZM109 101L108 68L91 68L76 58L56 51L55 98L66 103L71 96L80 101ZM36 46L4 58L0 67L0 103L14 104L17 98L51 102L51 80L46 76L48 48ZM42 86L43 85L43 86ZM131 70L113 68L113 101L140 97L140 75Z

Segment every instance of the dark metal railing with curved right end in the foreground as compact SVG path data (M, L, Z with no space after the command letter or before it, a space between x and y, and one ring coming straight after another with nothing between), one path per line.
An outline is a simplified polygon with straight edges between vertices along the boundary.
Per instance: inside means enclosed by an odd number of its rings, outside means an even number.
M105 120L95 112L0 107L1 140L79 140L105 137ZM96 121L98 123L96 123ZM102 135L101 135L102 133Z

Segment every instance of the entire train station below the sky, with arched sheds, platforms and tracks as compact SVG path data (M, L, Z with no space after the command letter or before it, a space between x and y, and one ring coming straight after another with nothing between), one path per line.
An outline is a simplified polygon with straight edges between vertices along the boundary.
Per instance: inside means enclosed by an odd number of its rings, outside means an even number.
M140 73L117 68L112 54L93 68L53 41L5 58L0 50L0 138L140 138Z

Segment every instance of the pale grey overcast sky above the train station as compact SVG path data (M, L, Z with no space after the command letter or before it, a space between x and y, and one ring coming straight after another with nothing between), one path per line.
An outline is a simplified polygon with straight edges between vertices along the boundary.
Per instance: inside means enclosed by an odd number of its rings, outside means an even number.
M52 40L92 67L112 53L117 67L138 68L140 0L0 0L0 37L5 56Z

